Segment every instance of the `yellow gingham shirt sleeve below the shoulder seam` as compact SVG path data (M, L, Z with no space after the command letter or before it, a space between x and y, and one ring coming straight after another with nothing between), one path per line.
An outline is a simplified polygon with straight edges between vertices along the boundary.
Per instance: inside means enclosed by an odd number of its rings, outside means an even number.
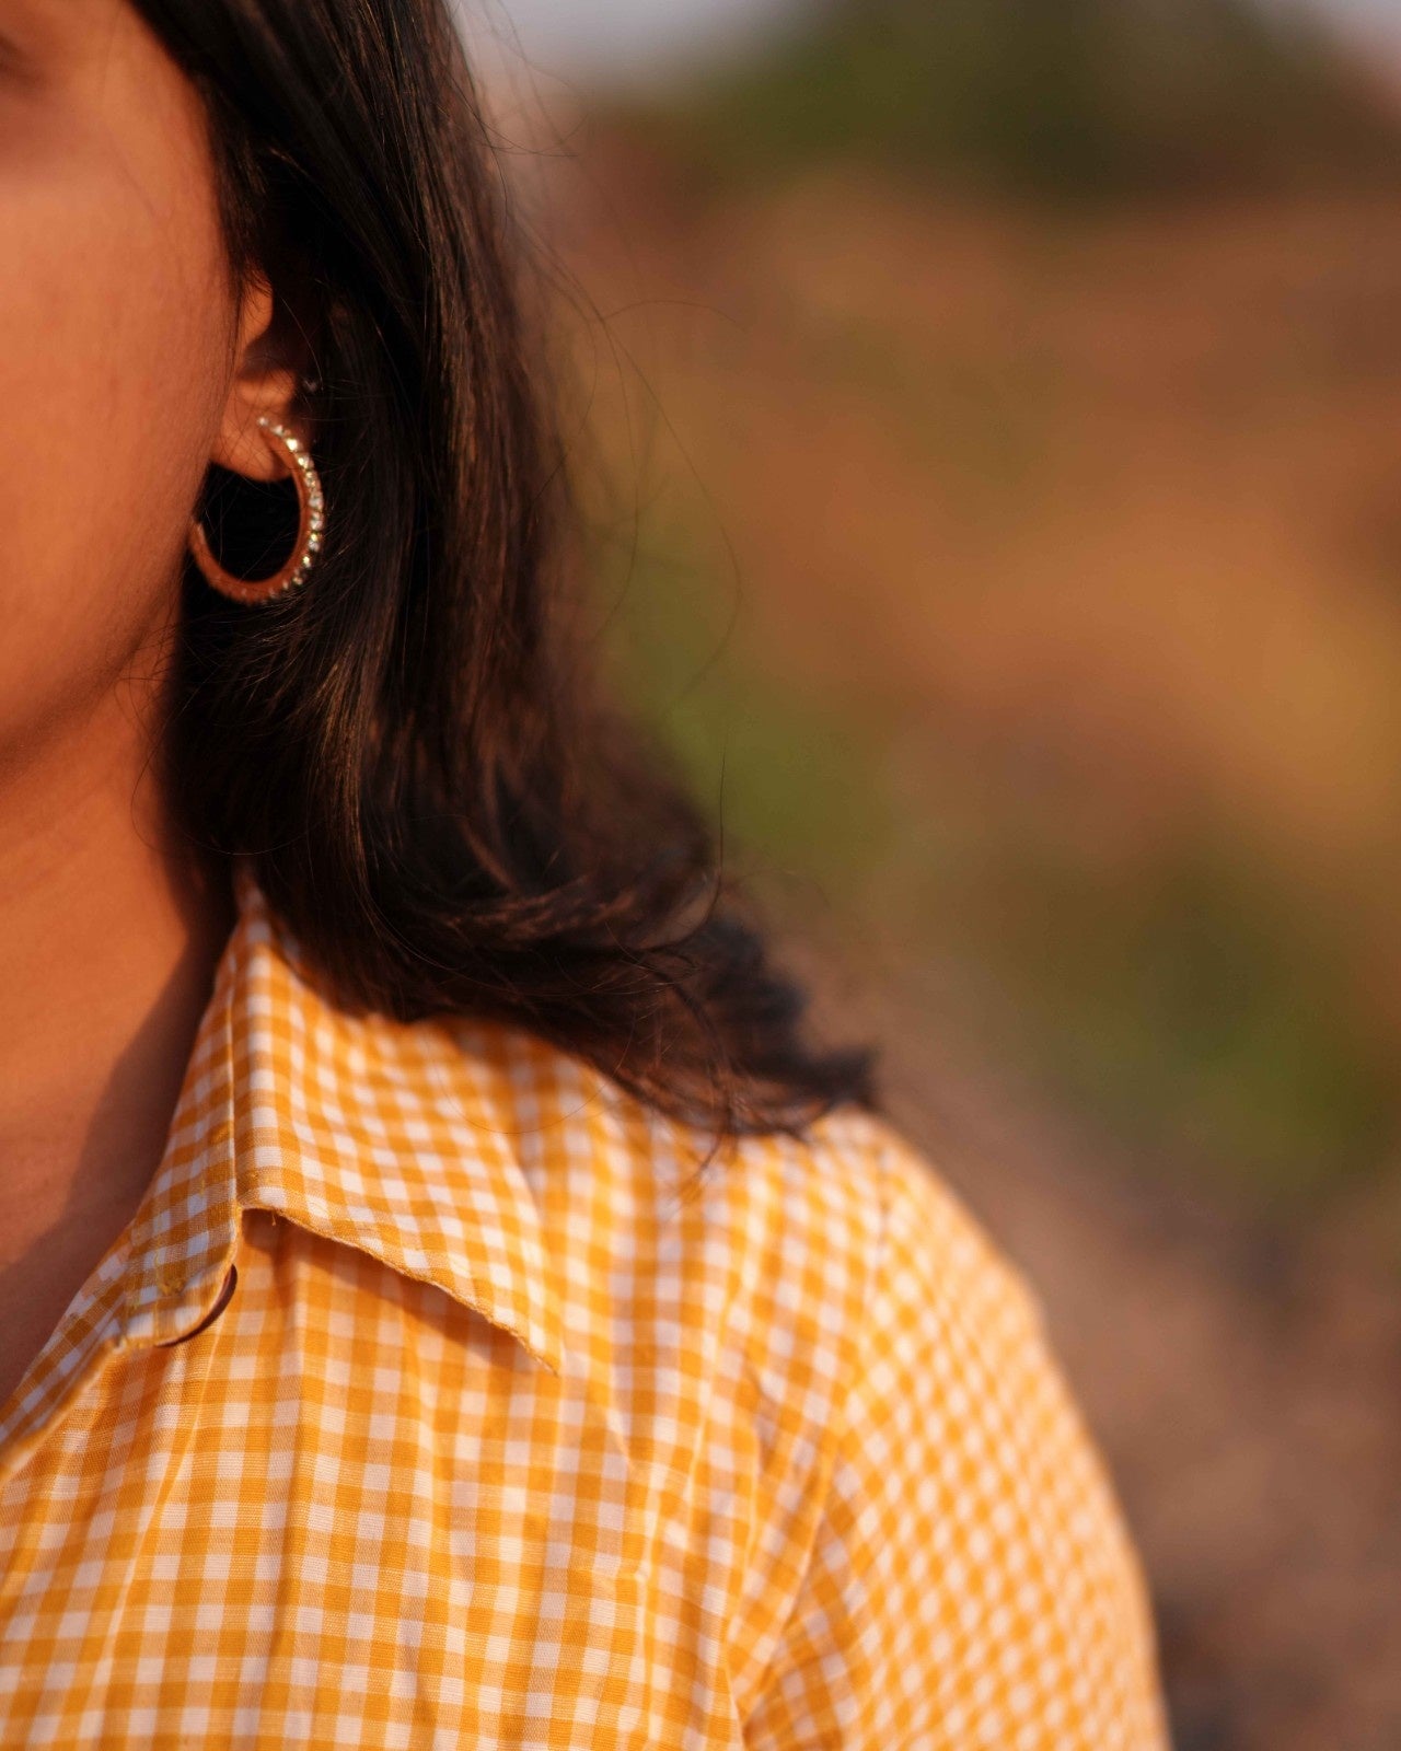
M746 1746L1166 1751L1142 1569L1040 1303L898 1136L881 1196L863 1361Z

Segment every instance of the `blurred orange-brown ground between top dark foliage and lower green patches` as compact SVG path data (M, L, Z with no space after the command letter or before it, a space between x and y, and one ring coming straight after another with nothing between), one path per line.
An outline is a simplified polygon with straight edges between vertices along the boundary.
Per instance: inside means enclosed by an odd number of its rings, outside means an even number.
M1035 749L1130 874L1184 830L1287 867L1401 1044L1401 205L708 208L606 137L569 168L590 420L739 592L736 650L898 711L916 765Z

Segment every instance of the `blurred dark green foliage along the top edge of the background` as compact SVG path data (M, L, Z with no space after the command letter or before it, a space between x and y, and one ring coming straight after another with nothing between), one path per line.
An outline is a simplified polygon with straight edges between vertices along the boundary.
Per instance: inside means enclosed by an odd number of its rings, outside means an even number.
M1112 198L1401 165L1359 72L1256 0L828 0L634 119L722 180L858 158Z

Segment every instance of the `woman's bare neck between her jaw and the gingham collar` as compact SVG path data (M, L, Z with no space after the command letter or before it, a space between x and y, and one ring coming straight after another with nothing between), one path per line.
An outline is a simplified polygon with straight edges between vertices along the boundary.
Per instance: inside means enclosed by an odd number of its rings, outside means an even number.
M233 921L124 704L0 769L0 1271L91 1268L135 1213Z

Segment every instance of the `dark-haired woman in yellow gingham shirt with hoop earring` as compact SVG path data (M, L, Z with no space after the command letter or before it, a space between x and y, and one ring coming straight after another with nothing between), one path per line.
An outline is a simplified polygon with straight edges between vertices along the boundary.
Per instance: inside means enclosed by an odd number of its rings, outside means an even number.
M1158 1747L1031 1294L585 685L527 329L441 0L0 0L0 1744Z

